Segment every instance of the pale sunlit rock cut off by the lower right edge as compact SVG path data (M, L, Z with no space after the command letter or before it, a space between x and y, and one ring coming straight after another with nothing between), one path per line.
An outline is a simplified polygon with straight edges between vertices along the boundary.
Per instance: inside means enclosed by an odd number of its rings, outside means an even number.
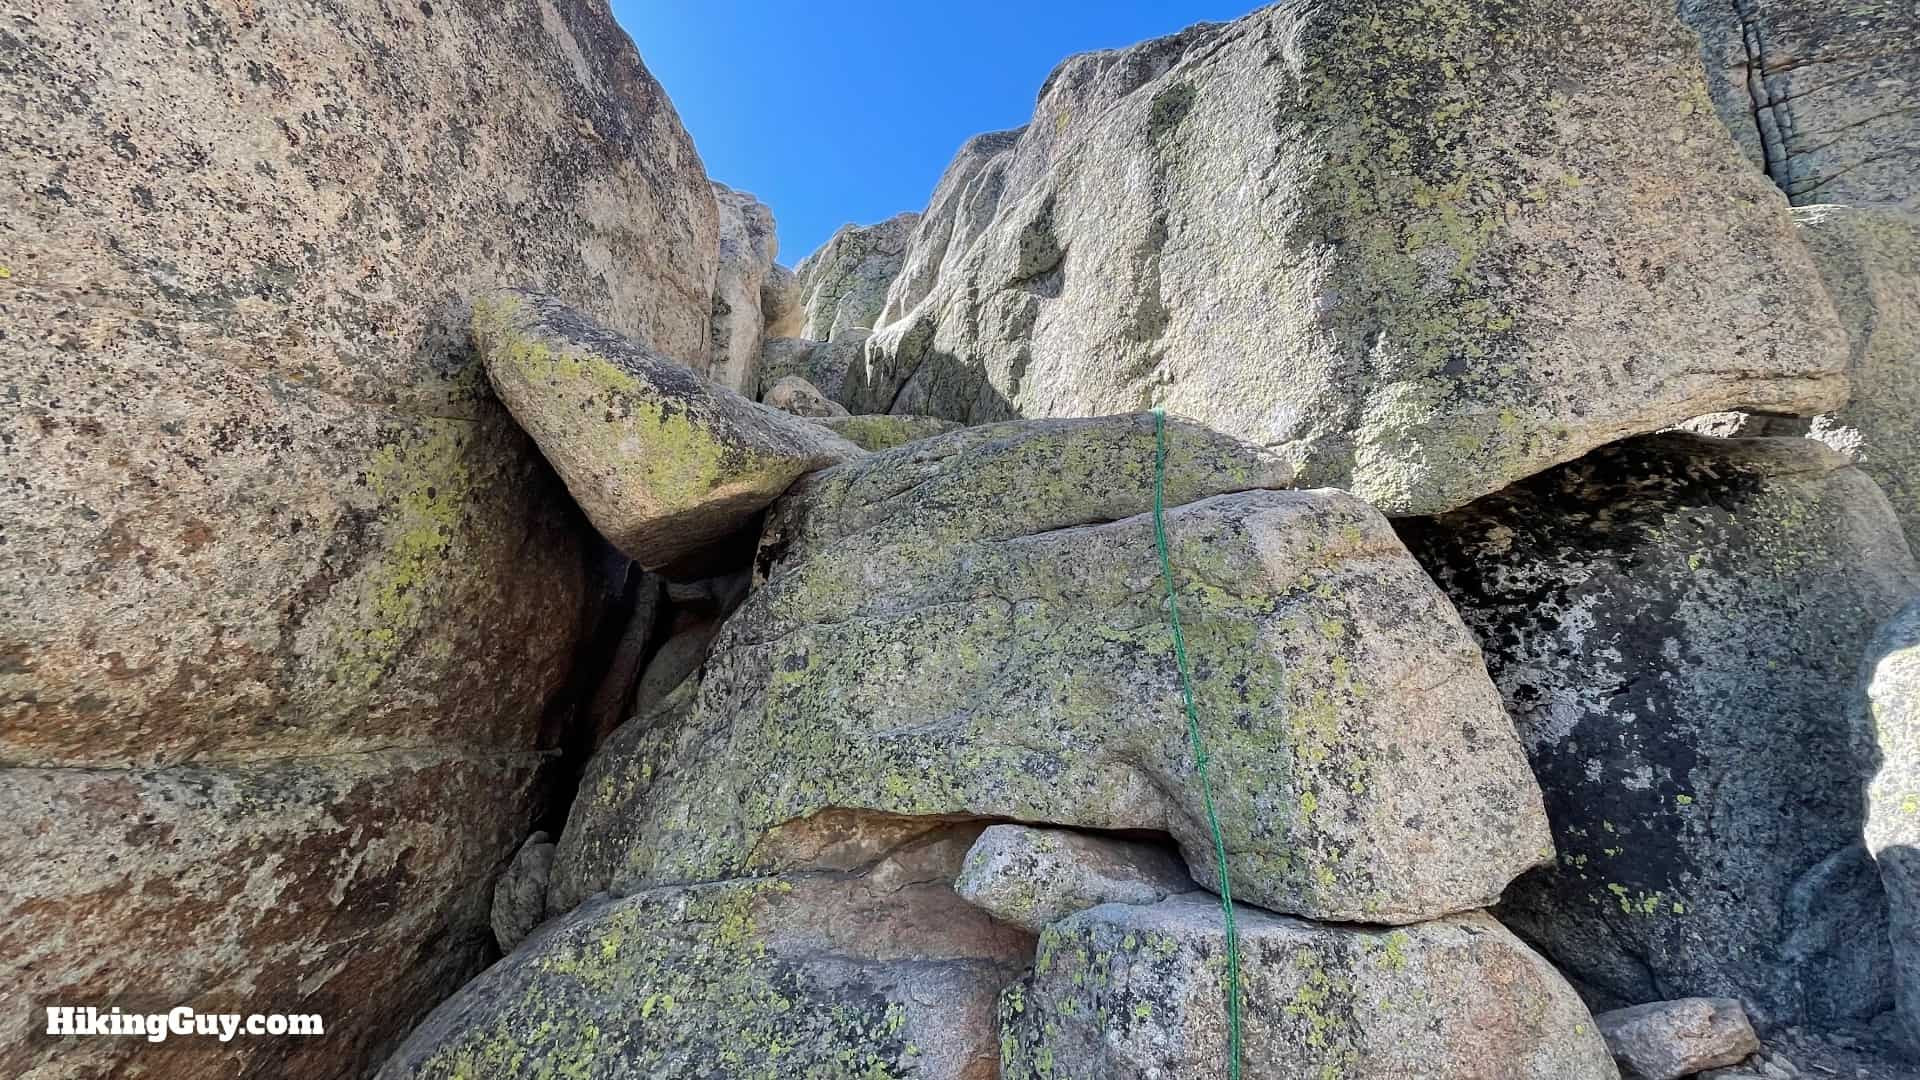
M1866 846L1891 909L1895 999L1920 1045L1920 600L1868 646L1855 726L1870 740Z

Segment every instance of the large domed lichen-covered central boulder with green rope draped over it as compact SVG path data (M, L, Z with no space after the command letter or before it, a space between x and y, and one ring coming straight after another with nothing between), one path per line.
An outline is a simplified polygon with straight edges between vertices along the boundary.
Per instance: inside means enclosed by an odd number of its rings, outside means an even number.
M1549 857L1478 648L1384 519L1267 490L1284 463L1227 436L1167 436L1235 896L1405 922L1486 905ZM1152 417L1021 421L797 486L687 713L589 765L561 903L785 869L787 830L829 809L1164 830L1215 882L1152 461Z

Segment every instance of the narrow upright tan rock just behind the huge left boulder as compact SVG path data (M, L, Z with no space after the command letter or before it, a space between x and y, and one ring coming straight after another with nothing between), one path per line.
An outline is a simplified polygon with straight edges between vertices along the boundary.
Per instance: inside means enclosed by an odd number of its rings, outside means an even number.
M751 396L760 384L762 292L780 256L780 238L774 234L774 211L760 200L718 183L712 188L720 208L720 265L714 273L712 356L697 371L735 394Z

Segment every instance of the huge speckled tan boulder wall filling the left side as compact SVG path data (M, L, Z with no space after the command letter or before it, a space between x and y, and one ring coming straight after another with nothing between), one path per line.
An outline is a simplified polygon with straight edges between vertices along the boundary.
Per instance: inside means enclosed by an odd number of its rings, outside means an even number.
M311 994L326 1040L171 1074L353 1074L484 963L582 623L463 298L538 281L701 359L705 169L601 0L73 0L4 40L0 988ZM156 1051L0 1072L54 1053Z

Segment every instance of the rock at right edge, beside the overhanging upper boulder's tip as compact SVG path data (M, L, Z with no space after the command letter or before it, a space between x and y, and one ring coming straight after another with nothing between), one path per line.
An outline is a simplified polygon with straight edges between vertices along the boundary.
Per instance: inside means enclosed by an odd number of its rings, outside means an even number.
M1793 217L1853 344L1853 398L1811 434L1860 463L1920 550L1920 213L1811 206Z

